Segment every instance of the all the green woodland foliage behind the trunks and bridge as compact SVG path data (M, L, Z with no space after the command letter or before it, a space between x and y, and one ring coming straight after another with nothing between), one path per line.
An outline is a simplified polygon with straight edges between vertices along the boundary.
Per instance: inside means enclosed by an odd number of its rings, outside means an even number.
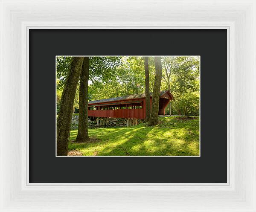
M62 90L70 61L71 57L57 57L57 90ZM89 61L89 101L145 93L143 57L90 57ZM172 114L198 116L199 57L162 57L161 62L161 90L170 89L175 97L175 101L172 101ZM149 57L151 92L154 86L154 73L154 57ZM75 107L79 108L79 86L74 101ZM169 114L169 107L166 107L166 114Z

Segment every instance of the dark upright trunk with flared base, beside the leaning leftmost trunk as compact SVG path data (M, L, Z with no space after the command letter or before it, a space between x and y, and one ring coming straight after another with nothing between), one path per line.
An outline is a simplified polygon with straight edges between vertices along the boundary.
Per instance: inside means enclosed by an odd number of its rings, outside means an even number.
M76 142L89 141L88 135L88 80L89 57L84 57L79 84L79 120Z

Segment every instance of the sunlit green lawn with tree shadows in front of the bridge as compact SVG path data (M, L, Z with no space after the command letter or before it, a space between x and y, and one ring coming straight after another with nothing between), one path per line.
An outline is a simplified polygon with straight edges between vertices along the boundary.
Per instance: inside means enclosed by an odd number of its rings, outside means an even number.
M140 124L129 128L89 129L92 141L74 143L77 130L70 132L69 151L82 155L199 155L199 118L161 117L154 127ZM186 118L186 117L185 117Z

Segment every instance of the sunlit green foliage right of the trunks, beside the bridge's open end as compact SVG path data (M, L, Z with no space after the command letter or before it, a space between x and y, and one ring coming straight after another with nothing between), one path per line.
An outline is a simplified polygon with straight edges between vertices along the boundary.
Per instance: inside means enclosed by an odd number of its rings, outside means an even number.
M165 58L164 58L165 59ZM164 77L170 74L169 85L166 80L162 84L162 90L172 91L175 101L172 101L172 114L199 116L199 57L180 56L166 58L163 62ZM163 78L164 78L163 77ZM166 114L169 114L169 107L166 107Z

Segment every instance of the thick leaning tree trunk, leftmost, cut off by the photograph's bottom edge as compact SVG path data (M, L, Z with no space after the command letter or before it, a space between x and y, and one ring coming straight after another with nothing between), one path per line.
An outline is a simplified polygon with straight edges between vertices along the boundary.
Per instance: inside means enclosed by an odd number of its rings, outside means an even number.
M84 57L74 57L61 95L57 118L57 155L67 155L72 110Z

